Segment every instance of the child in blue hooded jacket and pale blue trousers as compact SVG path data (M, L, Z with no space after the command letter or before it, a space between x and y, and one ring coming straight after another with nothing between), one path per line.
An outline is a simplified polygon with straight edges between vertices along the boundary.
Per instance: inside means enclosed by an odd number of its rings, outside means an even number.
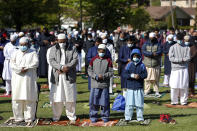
M145 65L139 49L131 52L131 62L125 67L124 77L126 80L126 105L125 120L132 119L134 107L136 108L137 120L144 121L144 79L147 77Z

